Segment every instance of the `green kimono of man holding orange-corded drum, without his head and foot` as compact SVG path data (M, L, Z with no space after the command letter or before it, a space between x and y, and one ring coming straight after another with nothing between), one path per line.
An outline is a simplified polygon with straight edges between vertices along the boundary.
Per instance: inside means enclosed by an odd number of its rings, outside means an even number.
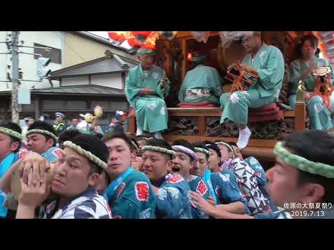
M252 60L248 54L243 63L257 69L259 78L246 87L246 91L236 91L221 95L221 123L230 119L238 124L247 124L248 108L260 108L277 101L284 77L284 59L280 50L271 45L262 44Z

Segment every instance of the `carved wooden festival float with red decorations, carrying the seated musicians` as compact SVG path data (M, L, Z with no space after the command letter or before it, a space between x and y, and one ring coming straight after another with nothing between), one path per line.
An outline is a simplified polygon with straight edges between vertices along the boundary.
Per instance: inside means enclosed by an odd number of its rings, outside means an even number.
M125 40L136 53L141 47L155 49L156 65L163 67L170 80L170 94L165 100L168 107L168 131L164 138L169 142L177 139L189 142L203 140L223 140L237 142L239 128L232 122L219 124L222 110L218 106L191 106L180 103L177 99L186 72L191 69L194 51L206 53L207 66L218 70L223 78L223 92L243 90L248 81L248 72L228 71L228 66L236 60L242 60L246 55L241 36L242 31L108 31L109 38L116 44ZM252 136L248 147L242 150L245 157L255 156L263 161L273 162L273 147L279 140L294 131L308 129L309 119L305 108L303 84L297 91L296 108L288 106L289 81L287 78L290 62L296 58L294 49L301 36L313 33L319 38L321 54L332 65L334 64L334 31L264 31L262 38L269 45L274 45L282 51L285 58L285 78L283 88L277 103L271 103L248 112L248 127ZM324 101L329 100L333 91L328 85L331 67L319 67L312 76L316 78L317 86L312 94L321 93ZM256 77L256 76L253 76ZM308 97L306 97L308 98ZM330 101L330 100L329 100ZM130 110L131 111L131 107ZM132 114L134 114L132 112ZM129 134L135 135L136 117L128 117Z

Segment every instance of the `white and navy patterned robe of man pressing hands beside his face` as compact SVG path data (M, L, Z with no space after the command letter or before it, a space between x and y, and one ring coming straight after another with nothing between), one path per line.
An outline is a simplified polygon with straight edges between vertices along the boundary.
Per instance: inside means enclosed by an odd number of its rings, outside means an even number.
M90 187L59 208L58 200L51 201L40 210L43 219L111 219L111 210L104 197Z

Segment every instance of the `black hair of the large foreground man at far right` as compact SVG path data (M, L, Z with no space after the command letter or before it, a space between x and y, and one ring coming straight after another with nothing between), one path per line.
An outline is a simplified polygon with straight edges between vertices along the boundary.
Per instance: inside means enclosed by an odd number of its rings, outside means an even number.
M327 131L312 130L290 134L285 140L285 147L292 153L315 163L324 163L334 167L334 136ZM299 169L298 169L299 170ZM334 201L333 178L310 174L299 170L299 185L317 183L324 187L322 202Z

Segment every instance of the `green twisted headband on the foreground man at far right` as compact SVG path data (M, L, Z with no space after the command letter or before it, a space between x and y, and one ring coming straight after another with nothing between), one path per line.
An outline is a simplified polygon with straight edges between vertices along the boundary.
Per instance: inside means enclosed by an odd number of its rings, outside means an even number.
M276 156L281 158L288 165L310 174L318 174L326 178L334 178L334 166L324 163L315 163L301 156L297 156L287 151L283 145L283 142L277 142L275 148L273 149L273 153L275 153Z

